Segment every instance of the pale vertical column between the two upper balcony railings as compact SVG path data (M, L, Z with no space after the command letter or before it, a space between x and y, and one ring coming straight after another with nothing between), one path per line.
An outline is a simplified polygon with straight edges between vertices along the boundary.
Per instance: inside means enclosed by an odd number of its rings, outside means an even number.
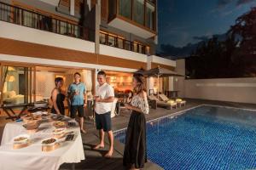
M97 0L95 15L95 54L100 54L101 0Z

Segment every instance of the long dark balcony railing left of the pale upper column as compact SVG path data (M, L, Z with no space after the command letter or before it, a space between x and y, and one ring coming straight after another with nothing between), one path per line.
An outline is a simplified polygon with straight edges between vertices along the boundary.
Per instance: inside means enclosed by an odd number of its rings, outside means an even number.
M0 20L87 41L95 39L95 31L89 28L2 2L0 2Z

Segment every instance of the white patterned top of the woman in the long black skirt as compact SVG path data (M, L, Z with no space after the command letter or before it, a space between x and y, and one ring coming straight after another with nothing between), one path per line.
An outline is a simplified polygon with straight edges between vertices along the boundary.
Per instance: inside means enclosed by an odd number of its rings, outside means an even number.
M139 108L144 114L148 114L149 112L148 99L143 99L139 95L133 96L131 99L131 105Z

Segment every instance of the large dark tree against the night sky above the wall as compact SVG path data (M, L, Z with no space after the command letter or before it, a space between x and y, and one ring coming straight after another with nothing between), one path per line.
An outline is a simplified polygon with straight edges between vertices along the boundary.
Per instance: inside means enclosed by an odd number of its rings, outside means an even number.
M199 45L186 69L192 78L256 77L256 7L236 19L224 41Z

